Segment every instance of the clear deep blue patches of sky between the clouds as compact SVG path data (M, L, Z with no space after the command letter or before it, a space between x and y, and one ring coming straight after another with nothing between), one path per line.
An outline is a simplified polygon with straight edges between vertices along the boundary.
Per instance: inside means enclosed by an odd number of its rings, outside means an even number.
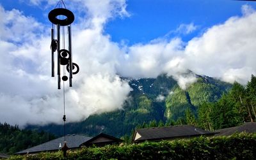
M15 8L44 24L49 23L45 13L55 6L52 5L51 8L45 1L42 1L40 6L25 0L0 0L0 3L6 10ZM58 0L56 0L57 3ZM178 34L182 36L182 40L188 41L212 25L223 23L229 17L241 15L243 4L256 6L252 1L231 0L129 0L126 4L126 10L130 16L110 19L104 26L104 33L109 34L113 41L125 40L129 45L147 43L175 31L180 24L193 23L198 26L195 33ZM177 34L173 33L170 36L177 36Z

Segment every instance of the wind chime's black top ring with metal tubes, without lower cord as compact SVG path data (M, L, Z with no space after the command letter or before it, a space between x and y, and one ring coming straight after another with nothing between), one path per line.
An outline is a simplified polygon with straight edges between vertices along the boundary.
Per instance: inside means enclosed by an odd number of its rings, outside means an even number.
M79 72L79 66L72 61L72 35L71 24L74 22L74 14L66 8L55 8L51 10L48 15L52 22L51 29L51 50L52 50L52 76L54 76L54 52L57 51L57 75L58 75L58 89L61 89L61 79L67 81L69 78L69 86L72 87L73 75ZM55 39L54 29L57 28L57 40ZM67 28L67 29L65 29ZM62 29L62 31L61 31ZM65 48L65 31L68 32L68 48ZM63 47L61 48L60 42ZM61 77L61 66L66 66L69 76L63 75ZM65 69L65 68L63 68ZM76 70L76 71L74 71Z

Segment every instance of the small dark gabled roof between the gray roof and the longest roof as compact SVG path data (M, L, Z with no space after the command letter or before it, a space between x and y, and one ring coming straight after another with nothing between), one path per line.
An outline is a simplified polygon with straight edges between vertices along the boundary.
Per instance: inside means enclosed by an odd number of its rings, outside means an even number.
M114 136L109 136L104 133L100 133L99 135L81 144L81 146L90 145L92 143L97 145L98 143L118 143L118 142L123 142L123 140L120 140L119 138L115 138Z

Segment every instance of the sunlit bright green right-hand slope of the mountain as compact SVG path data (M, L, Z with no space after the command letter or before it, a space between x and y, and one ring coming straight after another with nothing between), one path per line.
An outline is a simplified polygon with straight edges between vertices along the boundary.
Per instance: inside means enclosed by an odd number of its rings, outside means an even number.
M205 102L216 102L232 85L209 76L197 76L194 84L184 91L175 85L166 97L165 116L168 120L177 120L185 116L186 110L196 114L196 108Z

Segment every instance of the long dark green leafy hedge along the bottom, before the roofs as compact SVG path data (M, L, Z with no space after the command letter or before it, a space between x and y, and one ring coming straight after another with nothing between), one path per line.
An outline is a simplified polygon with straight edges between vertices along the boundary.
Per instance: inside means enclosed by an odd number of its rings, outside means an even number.
M46 152L10 159L256 159L256 134L239 133L216 136L143 142L129 145L106 145L62 152Z

